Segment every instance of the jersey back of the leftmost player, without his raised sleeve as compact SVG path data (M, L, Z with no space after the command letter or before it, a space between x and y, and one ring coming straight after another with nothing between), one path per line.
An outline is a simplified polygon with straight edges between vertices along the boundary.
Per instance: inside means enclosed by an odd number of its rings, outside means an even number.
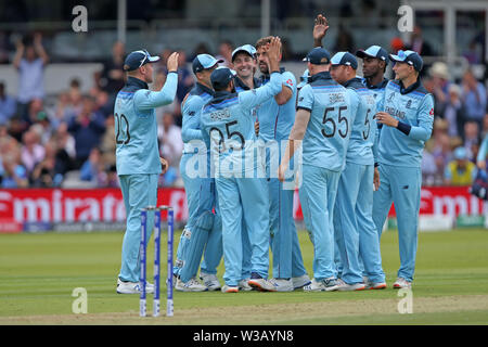
M137 93L150 92L147 85L129 77L115 100L116 166L118 175L159 174L157 124L154 108L139 110Z

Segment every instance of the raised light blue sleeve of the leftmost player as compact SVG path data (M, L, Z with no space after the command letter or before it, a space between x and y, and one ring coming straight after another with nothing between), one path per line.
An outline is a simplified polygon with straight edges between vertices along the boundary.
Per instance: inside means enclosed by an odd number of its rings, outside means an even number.
M168 105L175 100L177 87L178 74L169 73L160 91L138 90L133 95L134 106L138 110L151 110Z

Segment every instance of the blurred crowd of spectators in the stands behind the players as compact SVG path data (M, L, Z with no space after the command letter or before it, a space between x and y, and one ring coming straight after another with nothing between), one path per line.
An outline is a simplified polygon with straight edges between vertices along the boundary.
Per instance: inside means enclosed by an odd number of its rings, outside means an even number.
M345 30L345 29L344 29ZM337 49L352 44L344 31ZM428 50L413 36L412 48ZM390 49L403 48L398 39ZM222 41L217 56L231 65L232 42ZM170 50L159 55L155 66L153 89L166 79L166 59ZM182 152L180 104L194 83L188 68L194 55L207 53L204 44L188 56L180 51L177 98L170 105L156 111L160 155L170 165L160 177L160 187L182 187L179 160ZM211 52L210 52L211 53ZM18 74L16 95L7 93L0 81L0 188L102 188L118 187L115 167L116 94L125 83L123 70L125 46L116 42L112 57L94 74L93 85L82 93L80 82L73 79L66 90L48 103L43 89L43 68L49 54L42 48L39 34L16 46L10 64ZM442 62L433 64L423 74L425 88L435 98L435 123L423 162L424 185L468 185L476 176L476 156L488 136L487 90L467 69L461 80L450 76Z

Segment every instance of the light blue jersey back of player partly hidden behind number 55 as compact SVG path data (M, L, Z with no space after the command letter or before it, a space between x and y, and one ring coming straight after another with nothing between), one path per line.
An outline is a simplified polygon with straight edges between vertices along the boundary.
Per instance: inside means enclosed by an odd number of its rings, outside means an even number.
M358 108L352 124L346 162L360 165L373 164L373 144L376 136L376 101L374 93L365 88L359 78L352 78L346 85L356 92Z

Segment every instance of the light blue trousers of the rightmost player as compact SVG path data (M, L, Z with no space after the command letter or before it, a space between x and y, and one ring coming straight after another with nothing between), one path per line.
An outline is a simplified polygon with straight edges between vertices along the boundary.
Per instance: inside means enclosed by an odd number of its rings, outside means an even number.
M419 242L419 211L422 172L418 167L396 167L381 164L380 189L373 194L373 221L381 237L391 203L398 221L400 269L398 277L413 281Z

